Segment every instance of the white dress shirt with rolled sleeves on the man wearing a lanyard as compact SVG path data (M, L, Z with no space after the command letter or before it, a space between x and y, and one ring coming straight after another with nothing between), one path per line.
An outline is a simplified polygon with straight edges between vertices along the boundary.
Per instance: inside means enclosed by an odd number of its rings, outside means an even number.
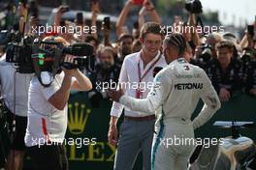
M161 55L160 51L158 54L150 61L144 68L143 60L141 59L141 53L132 53L125 57L122 68L119 75L119 84L121 84L124 93L129 96L136 98L136 89L139 86L139 72L138 72L138 63L140 62L141 74L144 75L144 72L149 69L149 67L155 63L158 57ZM142 93L142 99L146 98L151 87L153 86L153 69L155 67L165 68L167 66L165 58L161 55L160 59L156 64L145 74L144 79L141 81L141 88L144 91ZM120 117L123 110L123 105L113 101L111 115L115 117ZM126 116L140 117L140 115L151 115L154 112L140 113L138 111L132 111L128 107L124 107L124 114Z

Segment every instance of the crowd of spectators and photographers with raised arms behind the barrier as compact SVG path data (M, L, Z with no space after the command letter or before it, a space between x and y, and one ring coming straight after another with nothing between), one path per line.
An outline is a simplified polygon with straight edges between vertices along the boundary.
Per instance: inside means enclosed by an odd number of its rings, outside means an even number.
M34 1L32 1L34 2ZM12 4L7 9L7 15L10 19L12 13ZM101 13L100 6L97 1L92 1L91 4L91 25L90 28L96 27L97 16ZM64 38L67 42L88 42L94 46L94 55L96 59L95 71L86 73L92 83L93 90L88 93L89 99L93 106L98 107L101 99L107 99L107 93L97 87L100 82L118 82L119 71L125 56L133 52L139 52L142 48L139 35L144 22L153 21L165 25L161 21L161 17L156 11L154 4L150 0L145 0L141 6L138 14L138 21L134 23L133 30L129 30L126 22L129 19L129 13L133 9L138 8L133 0L128 0L124 5L121 13L118 16L117 22L109 26L106 20L102 22L101 29L90 29L88 33L81 32L81 34L71 34L68 32L54 33L50 35L58 35ZM25 9L28 9L28 17L25 17ZM28 35L38 37L34 28L39 28L39 13L36 3L26 5L26 8L20 4L18 6L18 13L16 20L19 21L15 26L6 26L9 31L22 29L24 19L28 19L25 27L25 32ZM62 26L68 28L69 26L85 26L85 21L78 18L74 22L70 20L63 20L62 15L65 13L63 6L54 10L54 26ZM176 31L185 30L183 32L187 41L187 50L185 58L190 63L203 68L208 73L208 77L217 91L221 101L228 101L237 91L244 92L250 96L256 97L256 39L247 30L244 31L244 36L240 40L231 32L220 32L219 30L209 33L205 36L197 31L189 32L187 29L180 29L182 27L197 27L196 14L188 13L187 20L182 21L179 15L174 16L174 25L179 28ZM18 25L18 26L17 26ZM19 30L17 29L19 28ZM254 30L256 23L254 23ZM34 29L35 30L35 29ZM99 39L99 30L102 32L103 39ZM110 39L111 31L116 32L116 40ZM41 37L48 35L41 35ZM163 34L164 38L165 34ZM1 53L3 54L4 45L1 45Z

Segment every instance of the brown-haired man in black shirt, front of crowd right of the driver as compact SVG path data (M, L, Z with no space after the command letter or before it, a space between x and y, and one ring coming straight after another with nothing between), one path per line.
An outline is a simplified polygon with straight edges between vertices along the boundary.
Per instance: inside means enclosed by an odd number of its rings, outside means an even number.
M242 85L241 63L233 58L233 49L232 42L219 42L216 45L217 58L208 63L208 77L221 101L229 101Z

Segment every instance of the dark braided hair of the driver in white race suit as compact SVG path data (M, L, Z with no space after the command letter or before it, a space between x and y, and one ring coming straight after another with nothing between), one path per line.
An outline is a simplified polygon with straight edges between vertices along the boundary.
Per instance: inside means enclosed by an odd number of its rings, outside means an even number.
M173 33L165 37L164 43L166 45L174 45L178 49L178 56L182 57L186 51L187 42L185 37L180 33Z

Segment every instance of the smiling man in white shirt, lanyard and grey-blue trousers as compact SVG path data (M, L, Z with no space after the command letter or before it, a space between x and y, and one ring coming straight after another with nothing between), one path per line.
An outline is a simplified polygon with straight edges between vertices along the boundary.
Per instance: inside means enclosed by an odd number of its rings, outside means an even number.
M141 30L142 50L125 57L119 75L119 84L125 88L125 93L134 98L144 99L153 82L155 67L165 67L166 61L159 49L162 44L160 25L148 22ZM155 123L154 112L137 112L125 107L124 122L119 130L116 123L123 110L123 105L112 103L109 142L117 146L114 170L131 170L133 164L142 151L144 169L151 170L150 150ZM143 116L141 116L143 114Z

